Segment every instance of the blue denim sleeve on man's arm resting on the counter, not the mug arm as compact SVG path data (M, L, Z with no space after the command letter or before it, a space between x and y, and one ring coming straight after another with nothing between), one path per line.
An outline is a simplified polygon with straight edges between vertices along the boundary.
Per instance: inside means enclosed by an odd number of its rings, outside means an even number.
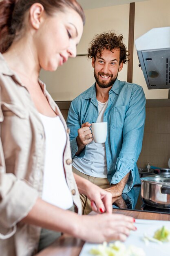
M132 93L128 109L126 111L123 128L123 144L116 162L116 172L110 183L117 184L131 171L126 184L126 191L132 188L135 178L135 166L141 152L145 125L146 99L143 88L138 86Z

